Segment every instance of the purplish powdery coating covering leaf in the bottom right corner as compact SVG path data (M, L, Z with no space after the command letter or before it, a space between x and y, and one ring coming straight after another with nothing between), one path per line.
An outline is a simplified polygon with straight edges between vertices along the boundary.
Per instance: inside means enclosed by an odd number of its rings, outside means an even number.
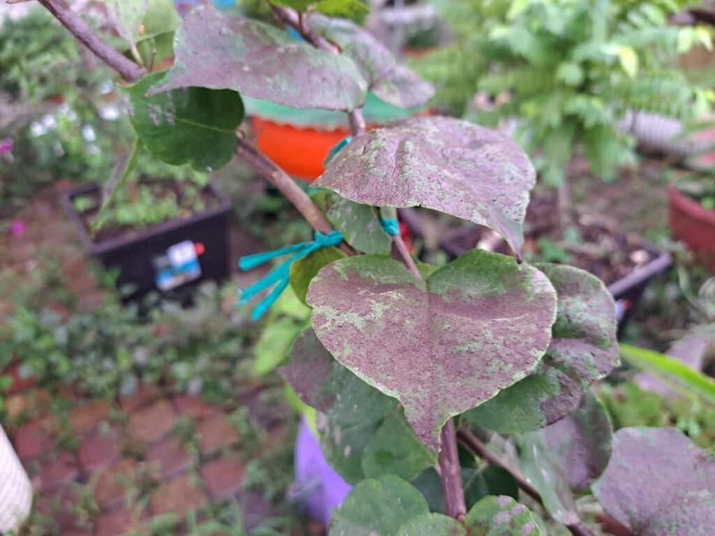
M715 458L673 428L618 430L594 495L638 536L711 536Z

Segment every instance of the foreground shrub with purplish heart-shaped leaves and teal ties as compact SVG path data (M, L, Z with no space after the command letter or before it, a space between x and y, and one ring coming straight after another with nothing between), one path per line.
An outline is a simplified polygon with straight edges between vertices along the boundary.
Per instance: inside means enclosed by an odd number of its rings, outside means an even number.
M331 534L541 535L538 512L548 512L587 535L576 497L588 492L613 524L640 535L710 531L713 460L677 430L612 435L589 390L618 362L603 284L579 269L521 260L535 182L526 154L501 134L447 117L366 131L368 90L405 107L432 91L360 26L315 14L355 14L364 4L272 4L303 41L195 9L176 30L171 69L147 72L97 40L62 0L40 3L131 84L132 123L149 152L202 170L237 155L315 229L313 242L243 259L250 268L290 255L242 302L268 290L260 317L292 284L312 309L282 373L320 411L323 452L355 485L333 512ZM130 46L142 28L157 27L154 2L108 4L131 7L109 9ZM327 191L324 210L236 136L242 95L345 111L352 140L315 183ZM494 229L514 257L475 250L443 267L416 262L395 229L395 208L414 206ZM517 486L533 508L518 502Z

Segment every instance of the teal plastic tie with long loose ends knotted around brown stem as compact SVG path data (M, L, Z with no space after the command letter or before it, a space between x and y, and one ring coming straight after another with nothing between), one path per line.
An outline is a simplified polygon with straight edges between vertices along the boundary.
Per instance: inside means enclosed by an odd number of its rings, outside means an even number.
M317 252L318 249L323 247L335 247L342 242L342 234L340 234L340 231L332 231L328 234L322 234L316 231L314 236L315 240L312 242L301 242L300 244L274 249L272 252L256 253L239 259L238 266L240 269L250 270L259 267L261 264L271 262L273 259L292 253L291 257L268 272L265 277L262 277L262 279L259 279L246 289L239 289L240 299L237 305L245 305L258 294L275 285L271 292L258 302L255 309L253 309L251 314L252 319L260 319L288 286L290 283L291 264L303 257L307 257L312 252Z

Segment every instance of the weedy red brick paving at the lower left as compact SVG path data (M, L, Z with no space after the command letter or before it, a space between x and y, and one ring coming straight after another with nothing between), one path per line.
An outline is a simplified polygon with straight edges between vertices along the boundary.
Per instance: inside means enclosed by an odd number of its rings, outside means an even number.
M260 391L247 407L256 397ZM244 412L156 388L111 403L69 398L63 415L48 401L28 384L7 399L16 423L7 431L36 488L34 523L46 524L43 536L149 534L159 516L178 523L161 534L181 535L189 512L206 517L232 501L254 524L275 512L244 485L250 457L275 447L277 438L284 447L290 441L281 420L246 420ZM246 422L257 420L247 432Z

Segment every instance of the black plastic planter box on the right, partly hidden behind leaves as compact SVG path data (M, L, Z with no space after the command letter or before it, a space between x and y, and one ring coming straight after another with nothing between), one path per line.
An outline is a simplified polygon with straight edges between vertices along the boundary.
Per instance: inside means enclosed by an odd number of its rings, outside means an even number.
M452 233L448 233L440 243L442 249L450 259L456 259L462 254L465 254L468 249L463 247L460 238L465 235L472 234L479 227L465 227L458 229ZM641 300L643 293L654 277L666 272L673 264L671 254L661 249L654 247L647 242L641 241L639 246L651 254L653 260L643 267L631 272L626 277L618 279L608 285L608 292L611 292L613 299L616 300L616 312L618 318L618 336L623 333L623 329L628 324L628 319L631 317L633 309Z

